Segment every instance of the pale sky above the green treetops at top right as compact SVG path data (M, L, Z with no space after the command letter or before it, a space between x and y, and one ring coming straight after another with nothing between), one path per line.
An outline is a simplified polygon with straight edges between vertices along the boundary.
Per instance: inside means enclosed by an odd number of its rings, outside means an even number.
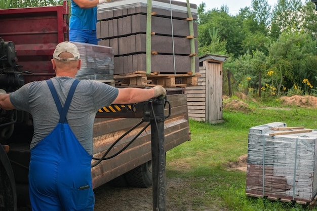
M186 2L186 0L179 0L180 2ZM220 9L220 7L222 5L227 5L229 8L229 14L230 15L236 15L239 13L241 8L245 8L245 7L251 7L251 2L252 0L218 0L218 1L214 1L214 0L189 0L189 3L191 4L195 4L197 5L197 7L204 2L206 4L206 8L205 11L214 9L214 8L218 8ZM304 0L302 0L303 3L305 3ZM278 0L267 0L267 3L273 8L274 5L276 5L278 3Z

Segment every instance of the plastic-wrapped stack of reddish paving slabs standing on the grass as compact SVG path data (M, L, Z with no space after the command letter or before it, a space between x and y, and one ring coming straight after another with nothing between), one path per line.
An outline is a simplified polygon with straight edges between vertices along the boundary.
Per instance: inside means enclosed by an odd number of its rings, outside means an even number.
M286 128L286 123L249 130L246 193L311 202L317 193L317 131L272 135L281 131L270 128Z

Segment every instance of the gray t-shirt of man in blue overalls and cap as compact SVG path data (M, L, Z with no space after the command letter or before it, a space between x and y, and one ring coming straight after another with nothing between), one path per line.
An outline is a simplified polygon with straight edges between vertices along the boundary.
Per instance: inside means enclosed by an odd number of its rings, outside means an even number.
M58 97L64 106L74 78L52 78ZM71 130L89 154L93 154L93 124L97 111L109 106L118 95L118 89L95 80L81 80L75 90L67 113ZM49 135L59 121L59 113L51 91L44 81L27 83L10 94L11 103L17 110L32 115L34 134L30 148Z

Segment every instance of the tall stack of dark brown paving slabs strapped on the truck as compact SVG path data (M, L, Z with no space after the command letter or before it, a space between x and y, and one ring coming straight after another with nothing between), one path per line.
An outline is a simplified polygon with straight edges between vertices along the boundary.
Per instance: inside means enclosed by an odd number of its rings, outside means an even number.
M151 2L151 72L192 72L190 30L187 4L157 0ZM197 19L196 5L190 4L190 14ZM146 0L118 0L97 6L98 45L114 49L114 74L146 71ZM187 20L186 20L187 19ZM197 37L194 21L191 36ZM172 27L173 26L173 27ZM172 29L173 28L173 29ZM194 72L199 72L199 58L194 56ZM175 65L174 65L175 64Z

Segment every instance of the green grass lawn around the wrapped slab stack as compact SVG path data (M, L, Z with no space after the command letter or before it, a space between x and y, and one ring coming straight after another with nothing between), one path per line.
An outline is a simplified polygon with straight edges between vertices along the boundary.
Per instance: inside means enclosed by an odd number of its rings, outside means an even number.
M226 102L232 100L239 101L231 98ZM317 129L317 108L283 105L279 100L244 102L245 109L223 109L224 123L190 120L191 141L167 152L167 177L186 180L196 193L188 194L191 209L184 210L317 210L317 206L248 197L246 172L228 170L228 163L248 153L251 127L285 122L287 126Z

